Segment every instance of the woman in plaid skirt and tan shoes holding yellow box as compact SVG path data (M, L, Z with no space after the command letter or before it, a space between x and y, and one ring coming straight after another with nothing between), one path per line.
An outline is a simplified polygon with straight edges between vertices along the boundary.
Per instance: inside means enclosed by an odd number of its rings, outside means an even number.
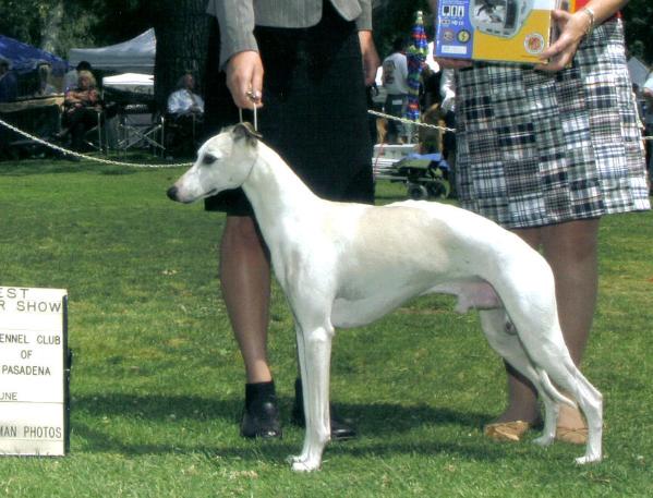
M601 218L650 209L637 108L626 65L627 1L554 10L558 38L534 66L438 59L457 69L457 183L462 207L512 230L549 263L558 314L581 362L596 305ZM437 12L437 0L432 0ZM516 441L539 425L532 385L509 365L508 406L485 434ZM587 439L560 408L556 437Z

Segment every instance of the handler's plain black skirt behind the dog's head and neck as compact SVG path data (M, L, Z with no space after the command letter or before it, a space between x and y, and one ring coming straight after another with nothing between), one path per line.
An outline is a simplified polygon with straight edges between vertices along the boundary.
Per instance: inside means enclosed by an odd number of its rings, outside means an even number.
M265 68L257 112L264 142L319 196L374 202L372 139L358 32L325 2L322 21L305 29L256 27ZM239 121L218 70L219 31L214 25L207 61L205 129L217 133ZM244 112L244 116L250 113ZM251 118L250 118L251 119ZM242 191L206 201L208 210L251 215Z

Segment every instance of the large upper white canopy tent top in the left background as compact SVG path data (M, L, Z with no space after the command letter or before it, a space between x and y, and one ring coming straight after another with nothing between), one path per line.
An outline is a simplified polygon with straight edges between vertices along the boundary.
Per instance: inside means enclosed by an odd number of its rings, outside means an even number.
M72 66L88 61L94 69L117 73L154 74L156 36L154 28L122 44L101 48L71 48L68 52Z

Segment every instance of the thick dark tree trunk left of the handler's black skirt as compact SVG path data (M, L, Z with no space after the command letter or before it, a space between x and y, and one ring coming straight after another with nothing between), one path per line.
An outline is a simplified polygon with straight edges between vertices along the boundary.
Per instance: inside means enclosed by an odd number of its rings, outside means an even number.
M155 98L162 111L186 72L195 76L197 89L203 87L209 17L206 0L154 0L150 4L157 37Z

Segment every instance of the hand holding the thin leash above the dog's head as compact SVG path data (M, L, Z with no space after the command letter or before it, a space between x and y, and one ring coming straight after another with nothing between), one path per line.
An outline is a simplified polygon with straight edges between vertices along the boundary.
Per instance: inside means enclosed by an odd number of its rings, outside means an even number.
M262 107L263 62L254 50L238 52L227 63L227 87L241 109Z

